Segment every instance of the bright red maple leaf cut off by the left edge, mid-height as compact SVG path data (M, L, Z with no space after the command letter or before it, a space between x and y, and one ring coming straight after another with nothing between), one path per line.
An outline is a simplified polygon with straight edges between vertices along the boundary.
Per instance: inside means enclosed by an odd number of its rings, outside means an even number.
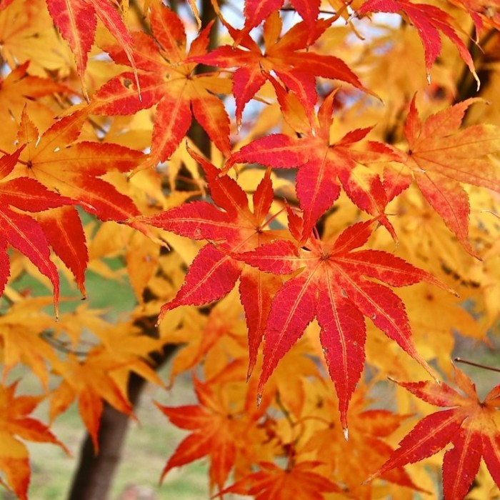
M6 154L0 158L0 294L3 293L9 278L9 256L6 254L6 248L7 244L10 244L26 255L41 274L50 279L54 286L54 306L57 314L59 275L56 266L50 260L49 241L40 224L22 211L39 212L74 204L74 201L49 191L36 179L18 177L6 180L14 170L23 150L24 146L13 154Z

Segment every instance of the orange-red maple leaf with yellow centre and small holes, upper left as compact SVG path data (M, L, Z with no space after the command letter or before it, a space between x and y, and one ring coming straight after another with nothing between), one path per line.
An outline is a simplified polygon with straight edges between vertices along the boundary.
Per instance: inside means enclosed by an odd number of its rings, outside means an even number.
M92 113L134 114L158 103L151 139L149 163L165 161L177 149L191 125L199 121L214 144L229 156L229 117L215 94L224 91L224 81L211 74L194 74L196 63L186 63L206 53L211 24L191 43L186 56L186 32L179 17L168 7L151 6L151 30L154 39L142 32L133 34L134 58L141 72L141 100L129 72L109 80L97 90L90 104ZM119 64L127 64L123 51L116 46L104 49Z

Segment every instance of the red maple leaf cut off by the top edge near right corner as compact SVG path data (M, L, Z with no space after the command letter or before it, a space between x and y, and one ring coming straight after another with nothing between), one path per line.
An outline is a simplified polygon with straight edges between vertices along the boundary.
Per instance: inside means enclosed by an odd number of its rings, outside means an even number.
M445 11L434 5L412 4L408 0L368 0L356 11L356 14L359 16L368 14L369 12L388 12L393 14L403 12L408 16L411 24L414 24L416 30L419 32L420 39L424 45L426 73L429 83L431 81L431 77L429 76L431 67L439 57L439 54L441 54L441 36L439 34L441 31L456 46L461 59L469 66L471 73L474 75L479 89L479 78L474 69L474 61L472 61L471 54L469 54L464 42L456 34L452 26L453 19Z

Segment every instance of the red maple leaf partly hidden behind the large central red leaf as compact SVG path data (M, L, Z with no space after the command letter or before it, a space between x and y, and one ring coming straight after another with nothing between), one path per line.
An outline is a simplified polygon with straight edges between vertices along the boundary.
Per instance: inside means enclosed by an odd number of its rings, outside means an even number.
M249 251L271 241L279 233L264 230L273 201L270 171L257 187L250 211L246 193L228 176L219 178L221 171L193 151L191 155L203 167L209 192L218 209L208 201L193 201L174 209L137 220L191 239L216 242L201 248L186 274L184 284L175 298L161 307L159 321L167 311L178 306L202 305L221 299L240 279L239 291L249 328L250 368L253 368L257 349L269 314L271 297L279 287L276 276L244 266L229 252Z

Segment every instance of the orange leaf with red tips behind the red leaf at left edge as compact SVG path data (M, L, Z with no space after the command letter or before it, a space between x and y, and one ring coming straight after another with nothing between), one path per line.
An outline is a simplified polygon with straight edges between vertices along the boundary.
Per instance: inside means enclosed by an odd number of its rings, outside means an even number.
M144 155L116 144L75 142L84 119L84 113L76 112L57 121L39 136L36 126L24 111L18 141L25 147L20 152L19 159L14 162L16 166L11 169L9 179L12 180L9 182L21 183L23 186L44 184L74 200L66 199L64 204L78 202L86 211L103 220L124 221L136 216L139 211L134 201L101 177L111 171L130 171ZM26 180L21 181L19 177L31 179L26 184ZM51 206L61 204L63 203L52 202ZM34 206L27 209L32 210ZM39 217L39 224L44 230L44 238L74 273L77 284L84 293L84 271L88 255L84 231L76 210L65 207L51 211ZM142 229L140 225L136 225L136 228Z

